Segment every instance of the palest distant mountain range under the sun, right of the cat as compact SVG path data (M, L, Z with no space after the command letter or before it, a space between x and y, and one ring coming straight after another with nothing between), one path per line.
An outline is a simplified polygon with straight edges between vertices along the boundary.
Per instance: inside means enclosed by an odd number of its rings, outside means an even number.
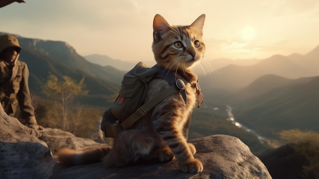
M236 91L267 74L289 79L319 75L319 56L315 58L314 55L319 54L319 48L317 48L306 55L274 55L249 66L231 64L219 69L214 78L200 75L201 85L204 84L202 88L205 91L216 91L217 89Z

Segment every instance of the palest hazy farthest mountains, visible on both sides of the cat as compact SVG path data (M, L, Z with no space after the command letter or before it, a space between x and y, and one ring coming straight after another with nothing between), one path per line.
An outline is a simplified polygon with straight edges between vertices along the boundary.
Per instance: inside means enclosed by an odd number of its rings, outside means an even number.
M204 59L194 68L199 75L201 87L236 91L246 87L262 75L274 74L288 79L297 79L319 75L319 45L306 55L273 55L267 59ZM91 55L85 57L92 63L116 66L120 70L129 70L136 63L114 60L108 56ZM148 64L155 62L147 62Z

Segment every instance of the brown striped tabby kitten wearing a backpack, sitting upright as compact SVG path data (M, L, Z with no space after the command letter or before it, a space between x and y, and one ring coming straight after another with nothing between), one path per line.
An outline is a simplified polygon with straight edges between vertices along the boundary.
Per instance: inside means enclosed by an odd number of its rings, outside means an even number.
M175 93L157 104L130 129L114 138L113 147L89 148L83 151L61 149L60 164L76 165L101 161L105 167L125 166L141 161L171 161L175 157L183 172L203 171L203 164L194 158L196 148L187 143L183 127L196 105L199 94L197 75L192 67L204 56L202 40L205 14L191 25L169 25L159 14L153 20L153 43L156 65L173 72L176 78L184 78L187 86L187 104L180 93ZM154 78L148 84L145 101L168 88L163 79ZM199 100L199 99L198 99ZM197 102L200 103L200 102Z

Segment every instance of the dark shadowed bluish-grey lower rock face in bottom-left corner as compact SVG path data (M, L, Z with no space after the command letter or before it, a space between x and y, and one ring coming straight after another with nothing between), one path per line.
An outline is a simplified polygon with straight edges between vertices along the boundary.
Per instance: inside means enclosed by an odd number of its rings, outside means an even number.
M40 143L0 142L0 151L0 178L49 178L57 163Z

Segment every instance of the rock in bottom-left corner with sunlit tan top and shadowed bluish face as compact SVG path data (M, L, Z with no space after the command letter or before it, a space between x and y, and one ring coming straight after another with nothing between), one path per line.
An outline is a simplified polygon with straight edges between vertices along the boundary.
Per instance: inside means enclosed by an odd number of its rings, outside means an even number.
M49 178L57 162L37 132L0 111L0 178Z

